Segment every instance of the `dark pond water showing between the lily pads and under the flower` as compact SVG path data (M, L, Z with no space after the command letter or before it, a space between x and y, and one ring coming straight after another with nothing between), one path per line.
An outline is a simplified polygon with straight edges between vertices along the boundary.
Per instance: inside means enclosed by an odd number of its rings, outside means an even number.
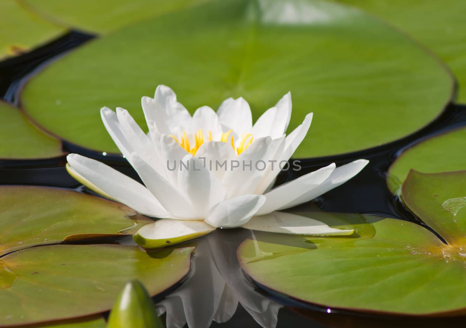
M17 93L25 78L41 65L65 52L87 42L93 36L79 32L70 32L67 35L45 45L37 50L20 57L14 57L0 62L0 95L3 100L21 106ZM419 223L413 215L403 207L400 200L393 196L385 184L385 175L389 166L397 155L420 140L436 135L452 128L466 125L466 106L448 105L438 119L413 135L405 137L394 143L380 147L363 150L356 153L344 154L334 157L302 159L302 170L299 172L282 172L277 180L281 184L290 179L297 178L310 171L335 162L337 165L349 163L358 158L366 158L370 163L355 178L340 187L322 195L318 199L295 207L292 211L309 212L320 209L328 212L377 214L406 221ZM119 171L139 180L137 173L121 156L103 156L94 151L82 149L79 146L64 143L67 152L78 152L112 165ZM0 184L2 185L47 185L63 188L76 188L85 193L92 193L82 188L71 178L64 168L65 157L40 161L6 161L0 160ZM208 299L215 294L212 288L212 275L220 275L222 281L228 285L235 297L242 299L233 317L225 323L212 323L211 327L260 327L258 321L265 327L273 326L277 314L277 327L463 327L466 318L457 319L415 319L410 317L384 317L380 315L360 314L349 311L332 310L329 314L327 308L306 304L268 290L264 286L255 284L240 270L236 259L236 248L250 232L245 229L217 229L193 243L196 245L196 254L192 258L192 269L188 277L173 289L157 296L160 312L167 310L164 317L168 321L181 320L186 317L186 307L192 306L194 315L187 319L192 322L192 328L199 322L204 322L209 316ZM110 242L110 241L105 241ZM126 240L123 242L132 242ZM212 263L218 273L207 272L207 263ZM215 270L214 270L215 271ZM199 288L203 286L203 288ZM219 287L219 289L221 289ZM188 302L185 307L174 306L170 303L176 295L185 295L195 292L196 299ZM218 291L217 291L218 292ZM203 305L203 304L207 305ZM258 307L264 307L262 314L254 312ZM226 307L228 309L228 307ZM230 309L231 310L231 309ZM234 310L234 309L233 309ZM233 311L231 310L231 311Z

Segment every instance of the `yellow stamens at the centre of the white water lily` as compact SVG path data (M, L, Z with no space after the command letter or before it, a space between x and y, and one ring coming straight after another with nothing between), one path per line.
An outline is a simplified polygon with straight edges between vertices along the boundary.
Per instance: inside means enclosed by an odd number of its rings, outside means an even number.
M232 135L231 138L229 138L232 131L233 129L228 132L223 132L222 135L220 136L219 141L222 141L224 143L230 142L236 155L240 155L244 150L247 149L247 147L251 145L251 143L253 143L253 134L242 133L240 136L240 141L238 142L238 147L235 148L235 142L233 140L234 136ZM169 135L169 136L171 136L181 146L181 148L186 150L188 153L192 154L192 156L196 154L199 147L204 143L204 134L203 134L202 129L199 129L198 132L194 132L194 147L192 148L189 143L188 135L185 131L183 131L183 135L181 136L181 142L179 142L178 139L174 135ZM211 131L209 131L209 137L207 141L212 141Z

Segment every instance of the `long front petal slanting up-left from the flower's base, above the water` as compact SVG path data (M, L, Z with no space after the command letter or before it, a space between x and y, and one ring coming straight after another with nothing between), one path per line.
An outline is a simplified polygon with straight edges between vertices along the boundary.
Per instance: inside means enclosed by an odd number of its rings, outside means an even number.
M194 213L188 199L180 193L170 182L158 174L151 165L144 162L136 153L131 154L134 169L139 174L144 185L160 201L163 207L177 219L199 219L199 214Z

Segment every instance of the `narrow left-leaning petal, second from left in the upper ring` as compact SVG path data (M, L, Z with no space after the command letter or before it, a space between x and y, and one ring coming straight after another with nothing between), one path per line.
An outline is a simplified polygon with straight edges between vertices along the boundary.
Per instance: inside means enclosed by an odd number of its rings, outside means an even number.
M161 158L156 152L151 139L137 125L126 109L117 107L117 117L120 123L120 128L126 137L126 140L131 144L133 151L136 151L144 161L150 164L162 176L165 176L165 168Z

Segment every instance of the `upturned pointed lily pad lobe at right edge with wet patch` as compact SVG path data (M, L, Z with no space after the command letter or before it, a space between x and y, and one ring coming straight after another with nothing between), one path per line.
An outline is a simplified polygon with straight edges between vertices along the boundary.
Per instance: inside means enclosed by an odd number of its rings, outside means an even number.
M450 245L464 246L466 259L466 171L410 171L401 196L409 209Z

